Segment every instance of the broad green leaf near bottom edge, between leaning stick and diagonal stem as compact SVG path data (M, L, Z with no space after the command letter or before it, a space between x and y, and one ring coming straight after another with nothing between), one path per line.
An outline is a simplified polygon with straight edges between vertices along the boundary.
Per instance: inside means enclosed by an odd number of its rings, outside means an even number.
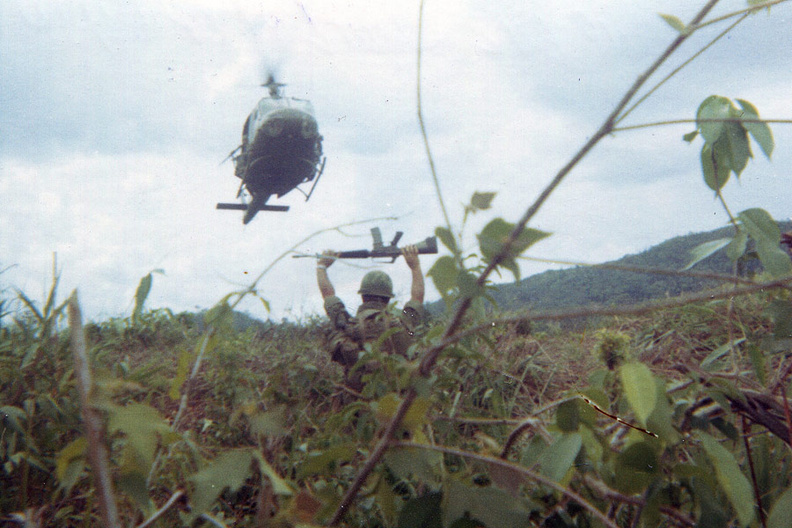
M198 512L208 511L226 488L236 491L252 474L250 449L225 451L190 479L194 486L191 503Z

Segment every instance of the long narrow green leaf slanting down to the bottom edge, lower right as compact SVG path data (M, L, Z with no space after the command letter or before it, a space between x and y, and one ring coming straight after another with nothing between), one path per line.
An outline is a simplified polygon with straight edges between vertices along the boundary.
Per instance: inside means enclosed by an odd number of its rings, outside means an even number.
M729 497L741 526L748 526L754 519L754 500L751 484L740 471L734 455L715 438L702 431L698 432L701 445L707 457L715 466L715 475L723 491Z

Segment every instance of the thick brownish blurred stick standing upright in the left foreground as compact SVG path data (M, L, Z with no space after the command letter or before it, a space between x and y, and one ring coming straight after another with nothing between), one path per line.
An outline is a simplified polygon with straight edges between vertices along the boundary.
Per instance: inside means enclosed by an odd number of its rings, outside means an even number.
M88 353L85 347L85 332L82 326L82 313L77 300L77 290L72 292L69 299L69 330L71 331L71 346L74 355L74 377L77 378L77 390L80 394L80 408L82 421L85 427L87 440L88 462L91 465L94 484L96 485L99 514L103 525L108 528L121 528L118 517L115 495L113 493L113 479L110 475L110 462L105 445L102 418L91 405L91 367L88 363Z

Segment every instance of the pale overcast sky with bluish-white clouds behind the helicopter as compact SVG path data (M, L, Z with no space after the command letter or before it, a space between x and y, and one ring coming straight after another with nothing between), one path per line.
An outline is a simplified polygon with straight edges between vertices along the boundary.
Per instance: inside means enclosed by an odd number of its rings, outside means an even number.
M701 2L703 4L703 2ZM456 227L474 191L497 196L516 221L599 127L635 77L674 38L658 13L690 20L697 2L427 0L423 111L443 197ZM714 16L745 7L724 0ZM369 247L369 229L405 243L443 223L416 112L418 0L5 0L0 3L0 288L42 299L53 253L61 294L77 288L95 320L126 316L152 269L148 308L211 307L319 230L398 217L314 237L300 251ZM670 71L726 26L703 30ZM749 17L666 83L624 124L695 117L707 96L751 101L765 118L792 118L792 5ZM238 180L221 161L264 95L268 70L286 95L310 99L327 165L309 202L288 213L216 211ZM553 235L529 255L604 262L670 237L715 229L726 216L704 185L692 125L605 139L535 217ZM788 219L792 130L775 125L768 162L757 145L726 199ZM433 262L422 257L424 271ZM321 313L315 262L286 258L259 283L261 318ZM330 270L357 305L371 264ZM391 273L409 296L403 261ZM523 276L547 269L527 261ZM511 279L511 275L503 280ZM438 298L427 281L429 300Z

